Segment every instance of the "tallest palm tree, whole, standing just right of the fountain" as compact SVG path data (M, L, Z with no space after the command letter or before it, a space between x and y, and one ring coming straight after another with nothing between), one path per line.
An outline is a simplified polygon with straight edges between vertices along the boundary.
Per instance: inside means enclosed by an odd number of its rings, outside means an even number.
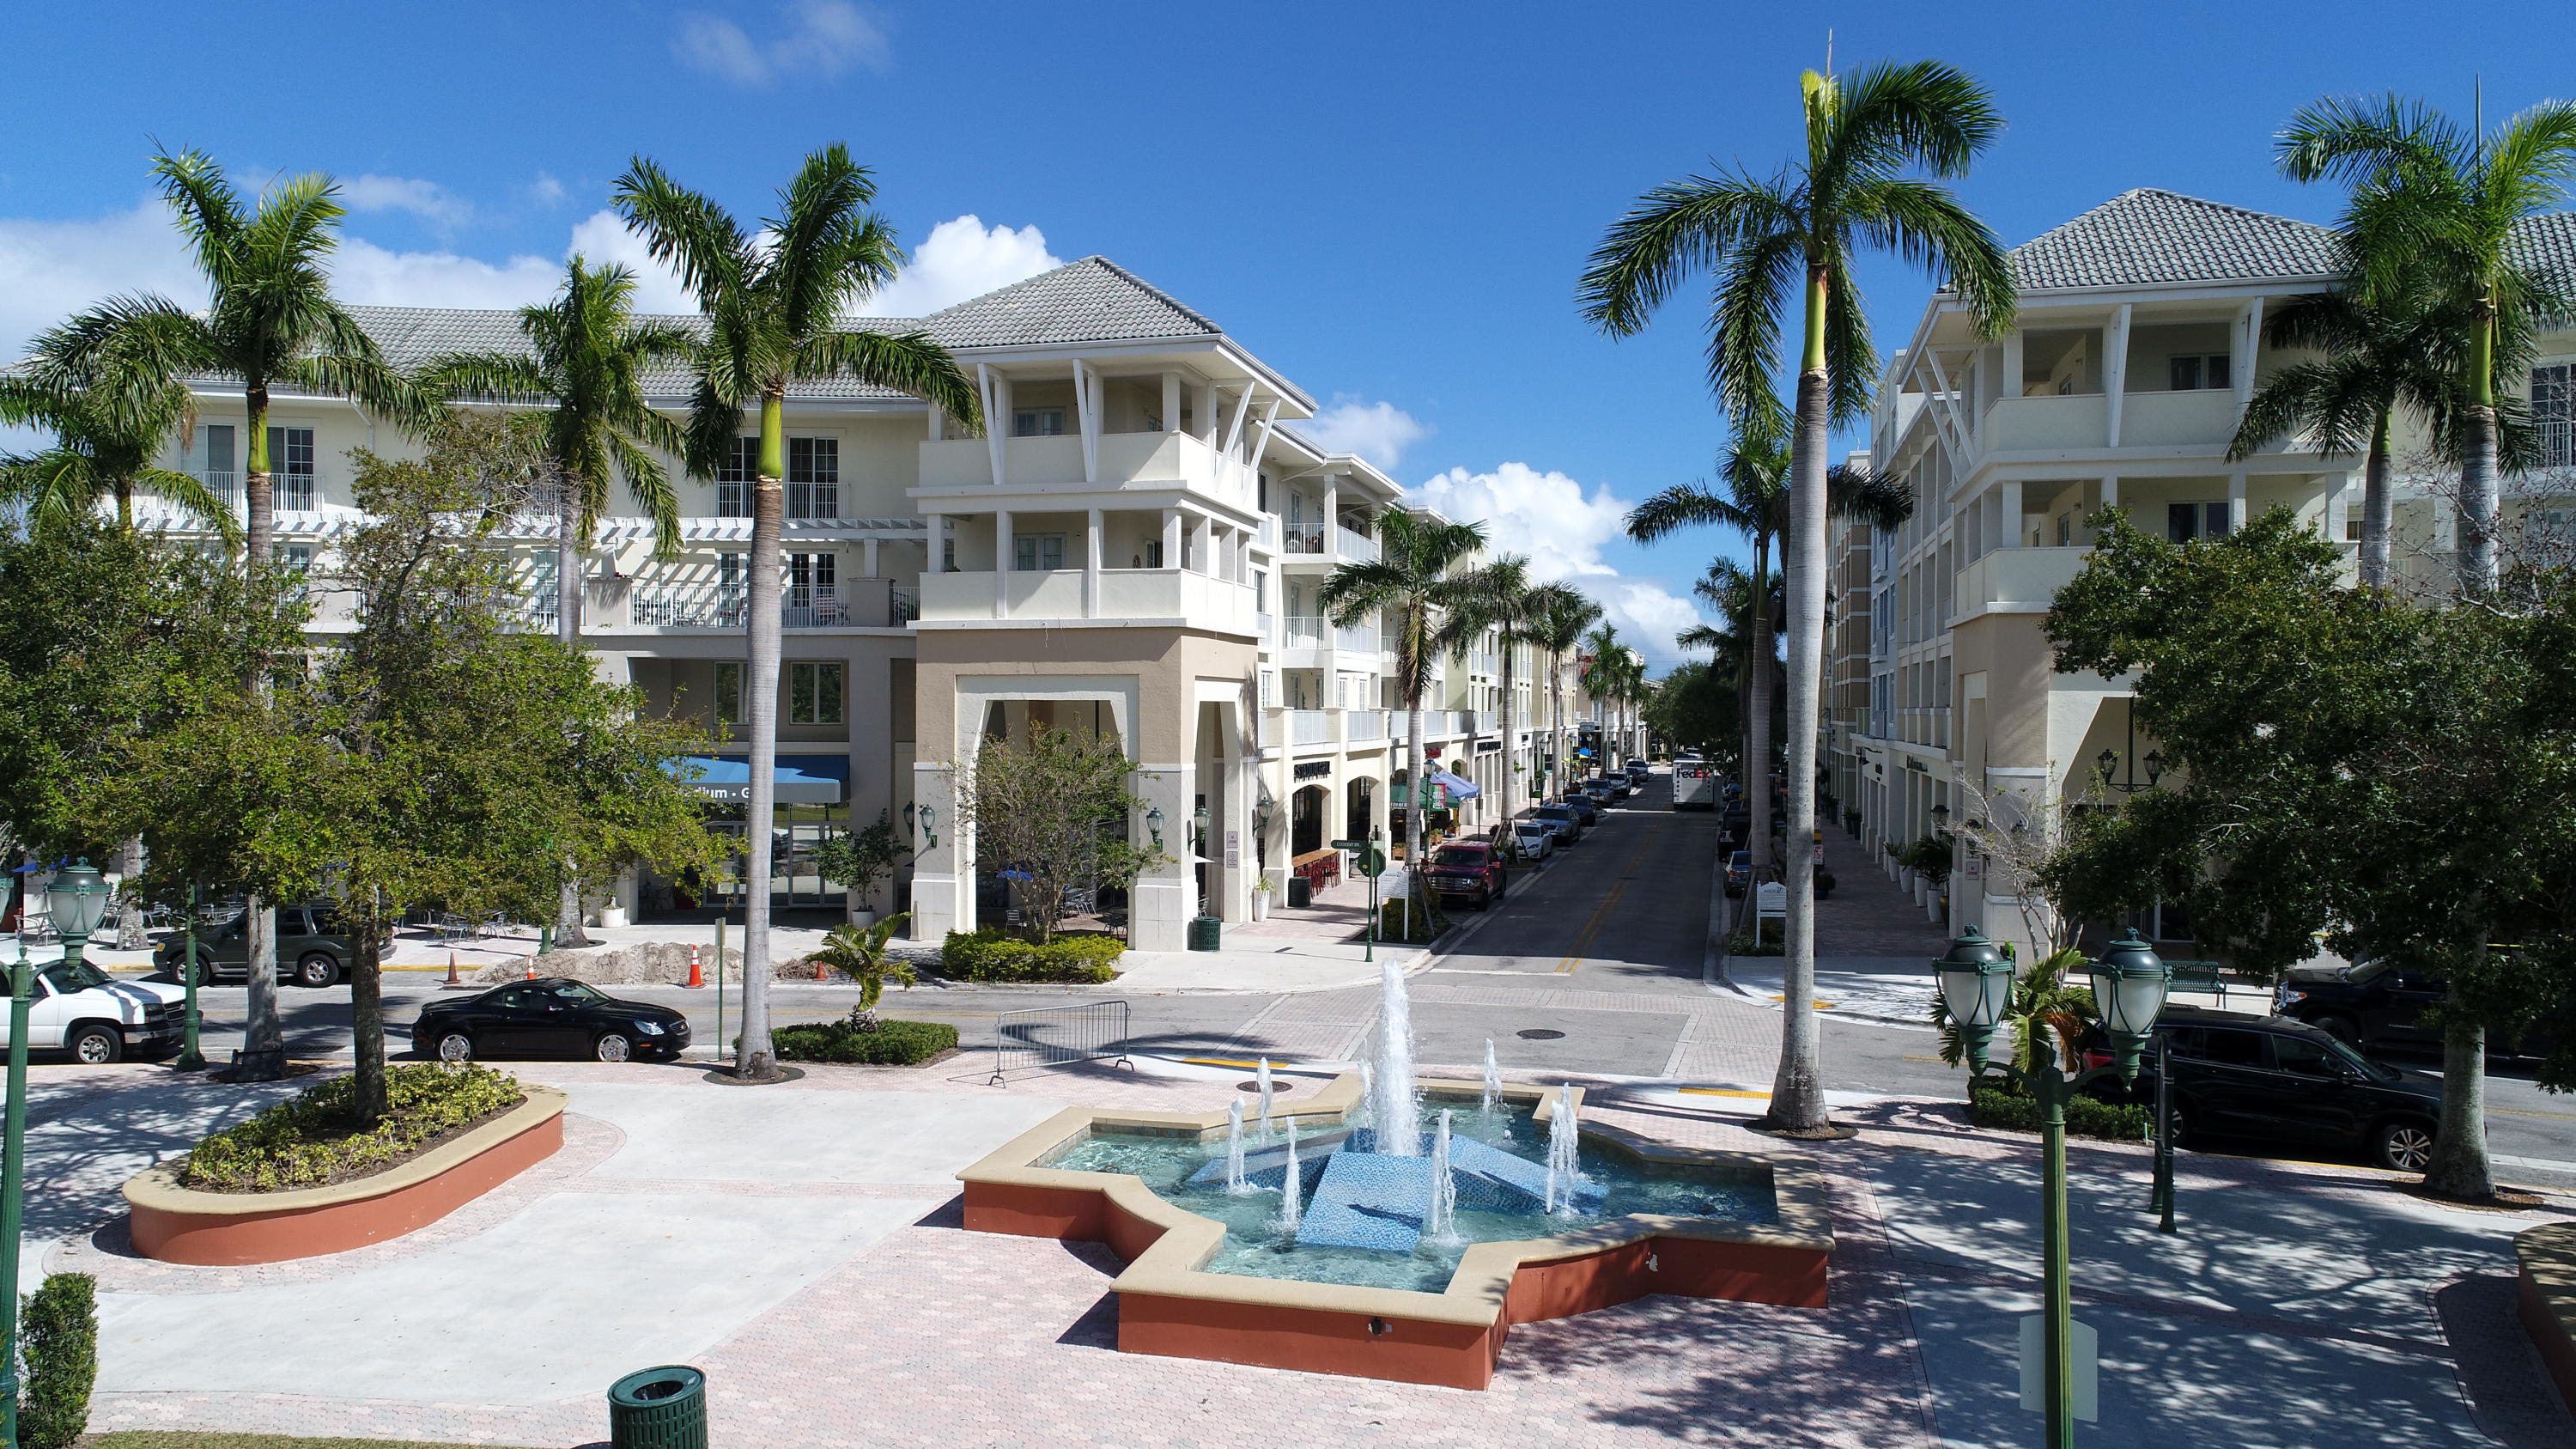
M1953 178L2002 131L1986 88L1940 62L1873 64L1847 83L1801 77L1806 157L1772 178L1747 170L1698 175L1649 191L1592 253L1584 317L1615 338L1636 335L1695 271L1716 273L1708 382L1736 428L1777 420L1780 315L1803 281L1806 333L1790 443L1788 552L1788 830L1816 828L1816 722L1824 665L1824 449L1832 420L1868 410L1878 371L1852 255L1886 248L1927 268L1976 317L1986 338L2012 322L2012 263L2002 242L1919 168ZM1754 792L1762 794L1759 789ZM1783 1047L1770 1122L1829 1132L1816 1067L1814 859L1790 851Z

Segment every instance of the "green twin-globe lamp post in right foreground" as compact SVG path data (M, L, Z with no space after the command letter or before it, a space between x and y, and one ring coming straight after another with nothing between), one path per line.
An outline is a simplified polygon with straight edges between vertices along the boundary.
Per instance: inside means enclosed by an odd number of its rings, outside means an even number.
M2040 1269L2045 1281L2045 1346L2048 1346L2048 1449L2074 1449L2074 1284L2066 1271L2066 1101L2087 1083L2117 1075L2120 1083L2138 1080L2138 1055L2146 1049L2156 1016L2164 1011L2164 993L2172 969L2154 946L2136 931L2123 931L2099 959L2084 969L2092 977L2094 1008L2110 1031L2112 1065L2066 1075L2056 1052L2035 1052L2030 1070L2012 1062L1989 1062L1986 1047L2012 1000L2012 962L1971 926L1950 944L1950 954L1932 962L1940 977L1942 1006L1958 1024L1968 1044L1971 1078L1996 1073L2027 1091L2040 1106Z

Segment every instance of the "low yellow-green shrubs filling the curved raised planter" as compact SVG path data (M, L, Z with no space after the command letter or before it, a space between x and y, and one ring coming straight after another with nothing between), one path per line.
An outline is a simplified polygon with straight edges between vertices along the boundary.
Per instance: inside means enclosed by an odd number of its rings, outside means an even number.
M412 1062L384 1073L389 1109L358 1129L358 1078L332 1078L198 1142L178 1181L214 1191L309 1189L381 1173L433 1137L507 1111L528 1093L492 1067Z

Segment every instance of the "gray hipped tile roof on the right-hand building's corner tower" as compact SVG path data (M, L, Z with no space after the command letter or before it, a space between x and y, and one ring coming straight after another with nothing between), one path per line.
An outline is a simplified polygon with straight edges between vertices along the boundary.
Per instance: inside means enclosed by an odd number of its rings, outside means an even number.
M2012 248L2025 291L2331 276L2336 266L2326 227L2156 188L2123 191Z

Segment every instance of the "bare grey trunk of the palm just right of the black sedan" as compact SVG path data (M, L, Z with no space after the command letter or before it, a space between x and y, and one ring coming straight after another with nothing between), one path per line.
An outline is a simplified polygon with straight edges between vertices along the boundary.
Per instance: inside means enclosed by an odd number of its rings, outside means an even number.
M742 843L742 1047L734 1070L770 1075L770 822L778 815L778 531L786 516L786 394L760 400L760 480L752 482L750 660L742 668L742 727L752 786Z

